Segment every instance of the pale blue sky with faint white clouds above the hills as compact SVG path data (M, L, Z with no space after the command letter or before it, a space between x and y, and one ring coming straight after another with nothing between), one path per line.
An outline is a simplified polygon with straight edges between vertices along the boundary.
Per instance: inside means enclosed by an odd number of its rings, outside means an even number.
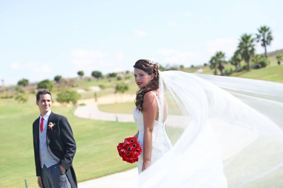
M231 57L266 25L283 48L283 1L1 1L0 79L53 80L132 70L138 59L185 67ZM256 52L264 49L257 44Z

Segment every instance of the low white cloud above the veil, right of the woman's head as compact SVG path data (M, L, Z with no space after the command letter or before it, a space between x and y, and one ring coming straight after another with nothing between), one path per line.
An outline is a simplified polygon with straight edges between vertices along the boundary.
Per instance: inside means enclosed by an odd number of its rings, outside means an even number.
M164 56L161 62L177 65L183 64L185 66L192 65L194 61L200 57L200 52L177 51L173 49L160 49L158 53Z

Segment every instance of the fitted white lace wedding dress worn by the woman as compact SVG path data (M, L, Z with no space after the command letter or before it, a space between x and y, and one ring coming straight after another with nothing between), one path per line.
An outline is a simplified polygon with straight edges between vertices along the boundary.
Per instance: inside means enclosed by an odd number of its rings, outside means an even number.
M150 91L158 103L158 108L160 108L159 98L157 97L156 93L154 91ZM159 116L158 116L159 117ZM136 122L136 126L139 130L139 136L137 138L139 144L141 145L141 155L139 155L139 161L138 161L138 171L141 173L142 163L143 163L143 153L144 153L144 147L143 147L143 140L144 140L144 119L143 114L139 112L139 110L134 109L134 120ZM162 131L157 131L158 129ZM157 133L158 139L157 139ZM151 153L151 164L153 164L155 161L157 161L160 157L162 157L165 152L170 150L172 147L172 144L166 135L165 132L165 124L162 123L159 126L158 121L154 121L153 131L152 131L152 153Z

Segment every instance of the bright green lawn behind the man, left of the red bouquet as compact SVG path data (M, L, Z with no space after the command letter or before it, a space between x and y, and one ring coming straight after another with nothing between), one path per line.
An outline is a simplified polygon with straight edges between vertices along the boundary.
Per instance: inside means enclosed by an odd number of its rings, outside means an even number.
M121 160L116 146L136 133L134 123L88 120L73 116L74 108L53 106L52 111L68 118L77 151L73 165L78 182L136 167ZM25 104L0 99L0 187L37 187L32 123L39 116L35 96ZM20 184L16 184L20 183ZM13 184L13 185L11 185Z

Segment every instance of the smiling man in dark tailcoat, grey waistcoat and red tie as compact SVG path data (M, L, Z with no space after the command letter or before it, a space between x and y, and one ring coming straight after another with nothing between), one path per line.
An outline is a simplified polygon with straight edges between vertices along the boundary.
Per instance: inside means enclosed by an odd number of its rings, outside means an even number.
M73 132L66 117L51 112L51 93L39 91L40 117L33 123L37 183L45 188L77 188L72 161L76 152Z

